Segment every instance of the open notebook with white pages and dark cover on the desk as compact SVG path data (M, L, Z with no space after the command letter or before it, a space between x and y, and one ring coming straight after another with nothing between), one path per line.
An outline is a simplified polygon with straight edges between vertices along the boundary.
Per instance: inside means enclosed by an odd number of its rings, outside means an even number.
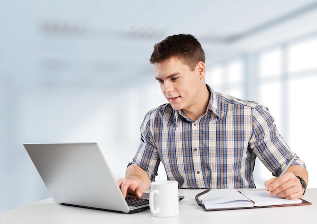
M289 200L270 196L265 190L240 192L235 189L208 189L196 195L196 202L206 211L310 205L303 199Z

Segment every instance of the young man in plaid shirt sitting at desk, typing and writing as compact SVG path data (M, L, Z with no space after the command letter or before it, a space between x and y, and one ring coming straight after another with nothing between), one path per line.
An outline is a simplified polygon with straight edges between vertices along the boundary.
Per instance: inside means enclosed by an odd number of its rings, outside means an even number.
M264 106L216 93L205 83L205 53L195 37L169 36L150 58L168 103L150 110L141 125L141 144L117 181L124 196L141 196L162 161L168 180L179 188L255 188L256 157L274 176L293 152L275 129ZM308 182L297 157L287 172L265 182L271 195L301 198Z

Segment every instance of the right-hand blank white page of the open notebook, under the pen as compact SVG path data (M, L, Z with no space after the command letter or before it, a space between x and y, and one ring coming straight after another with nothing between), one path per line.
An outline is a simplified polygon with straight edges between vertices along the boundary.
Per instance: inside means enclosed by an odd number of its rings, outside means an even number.
M286 205L286 204L299 204L301 199L289 200L285 198L279 198L278 196L271 196L267 194L267 191L245 191L242 192L244 196L254 201L254 206L270 206L270 205Z

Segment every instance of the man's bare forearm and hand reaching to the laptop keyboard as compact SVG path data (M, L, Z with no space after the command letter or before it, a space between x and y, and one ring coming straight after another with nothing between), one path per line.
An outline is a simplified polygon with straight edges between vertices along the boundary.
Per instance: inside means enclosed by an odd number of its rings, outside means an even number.
M127 193L141 197L143 191L150 188L151 179L141 167L130 165L126 170L126 177L117 180L116 183L125 198Z

